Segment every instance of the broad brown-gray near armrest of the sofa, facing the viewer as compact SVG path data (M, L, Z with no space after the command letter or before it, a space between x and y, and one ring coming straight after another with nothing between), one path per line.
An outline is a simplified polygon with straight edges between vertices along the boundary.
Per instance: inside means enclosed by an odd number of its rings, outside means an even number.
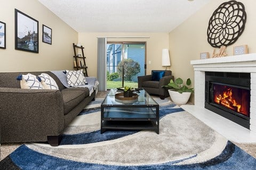
M47 141L64 128L59 90L0 88L1 142Z

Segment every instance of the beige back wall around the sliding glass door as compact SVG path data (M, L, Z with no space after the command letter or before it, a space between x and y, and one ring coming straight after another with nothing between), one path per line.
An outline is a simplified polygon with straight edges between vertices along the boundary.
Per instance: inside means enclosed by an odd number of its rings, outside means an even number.
M150 37L150 38L108 38L108 41L146 41L147 73L162 67L162 49L169 47L168 33L120 33L120 32L79 32L78 41L85 49L89 76L97 77L97 37ZM151 64L148 62L151 61Z

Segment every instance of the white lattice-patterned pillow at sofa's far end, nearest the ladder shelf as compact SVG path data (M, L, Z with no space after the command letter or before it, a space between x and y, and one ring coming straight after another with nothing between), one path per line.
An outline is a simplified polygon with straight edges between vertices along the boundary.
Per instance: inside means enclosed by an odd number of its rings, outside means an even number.
M87 84L84 77L83 70L78 70L78 71L66 70L66 72L67 72L67 81L68 81L69 87L83 86Z

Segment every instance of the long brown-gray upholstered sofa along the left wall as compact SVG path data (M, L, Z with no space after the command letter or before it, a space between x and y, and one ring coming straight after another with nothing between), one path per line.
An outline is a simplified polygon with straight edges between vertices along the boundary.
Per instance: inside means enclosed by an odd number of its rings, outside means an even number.
M52 72L59 90L21 89L19 73L0 73L1 142L42 142L58 146L62 131L94 99L88 88L66 88Z

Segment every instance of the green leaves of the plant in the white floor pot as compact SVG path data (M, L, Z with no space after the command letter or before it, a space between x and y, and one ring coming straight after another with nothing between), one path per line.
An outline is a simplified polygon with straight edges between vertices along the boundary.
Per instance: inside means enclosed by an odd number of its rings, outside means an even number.
M187 86L186 86L187 85ZM167 89L178 91L180 94L182 92L194 92L194 88L189 88L191 85L191 80L188 78L186 81L186 85L183 84L183 80L181 78L176 79L175 81L171 80L170 83L168 83L166 86Z

